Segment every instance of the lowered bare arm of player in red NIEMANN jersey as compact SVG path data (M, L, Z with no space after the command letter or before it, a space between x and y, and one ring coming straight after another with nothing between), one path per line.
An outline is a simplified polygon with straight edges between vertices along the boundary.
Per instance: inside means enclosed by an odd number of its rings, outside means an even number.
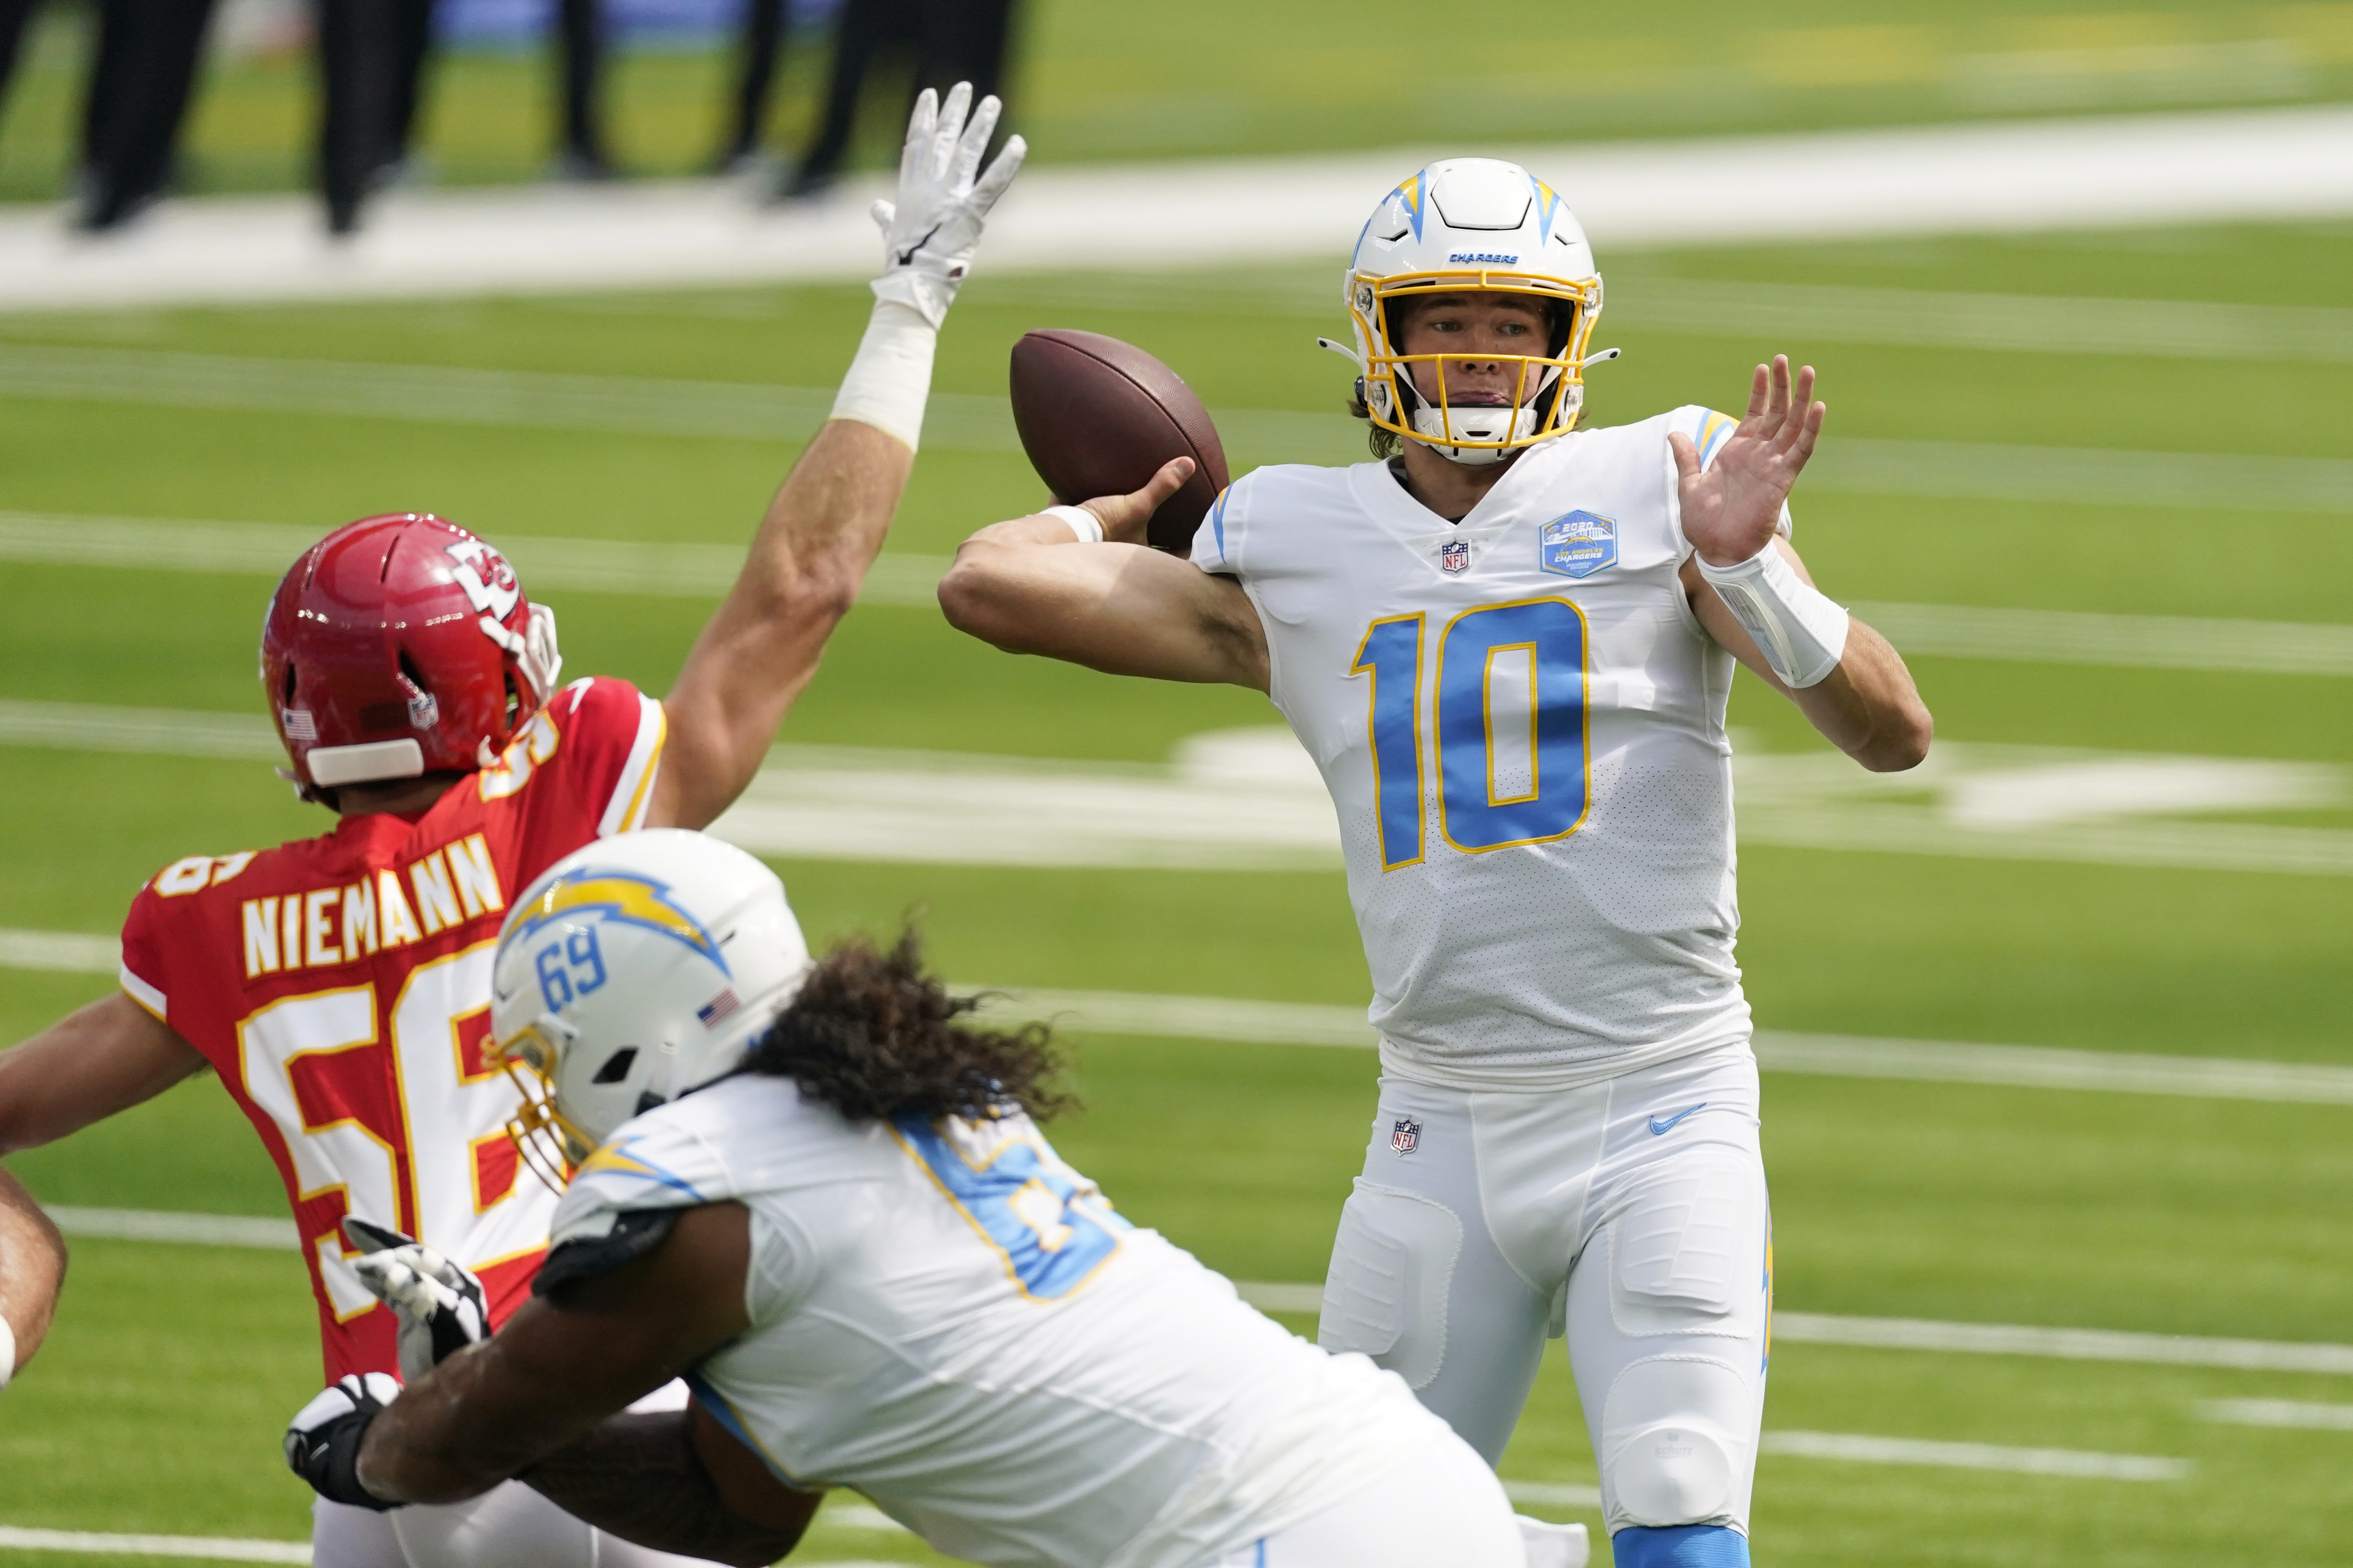
M115 991L0 1052L0 1154L54 1144L205 1067L195 1045Z

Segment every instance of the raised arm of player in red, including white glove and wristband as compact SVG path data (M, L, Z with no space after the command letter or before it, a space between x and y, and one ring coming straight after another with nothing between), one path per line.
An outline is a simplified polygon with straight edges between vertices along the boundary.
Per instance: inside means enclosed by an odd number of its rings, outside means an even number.
M899 200L875 202L885 264L873 320L833 419L769 501L744 574L664 699L671 732L649 826L706 826L744 793L882 549L915 464L939 325L1026 151L1012 137L981 172L998 101L981 99L967 122L969 104L962 82L946 104L929 89L915 101Z

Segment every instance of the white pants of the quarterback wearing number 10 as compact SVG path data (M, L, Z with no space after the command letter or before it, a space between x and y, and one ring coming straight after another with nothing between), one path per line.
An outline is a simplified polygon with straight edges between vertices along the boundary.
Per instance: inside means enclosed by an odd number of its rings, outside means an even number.
M1567 1333L1607 1528L1746 1533L1769 1318L1746 1043L1577 1090L1381 1078L1318 1337L1402 1375L1489 1464Z

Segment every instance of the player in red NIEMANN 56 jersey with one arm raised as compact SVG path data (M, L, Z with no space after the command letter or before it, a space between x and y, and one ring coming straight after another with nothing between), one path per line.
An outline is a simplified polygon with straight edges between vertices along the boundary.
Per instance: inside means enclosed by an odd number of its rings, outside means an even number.
M586 843L718 817L816 673L906 487L981 219L1021 165L1014 137L979 170L998 101L967 122L969 101L918 99L833 419L666 699L609 678L558 687L555 617L440 518L362 518L294 563L264 626L264 695L296 789L341 822L165 866L122 928L122 991L0 1055L0 1154L209 1064L285 1177L329 1377L395 1370L393 1314L353 1269L346 1217L475 1271L494 1323L529 1295L555 1194L518 1170L518 1090L485 1055L499 921ZM398 1516L322 1502L313 1540L320 1568L649 1561L520 1486Z

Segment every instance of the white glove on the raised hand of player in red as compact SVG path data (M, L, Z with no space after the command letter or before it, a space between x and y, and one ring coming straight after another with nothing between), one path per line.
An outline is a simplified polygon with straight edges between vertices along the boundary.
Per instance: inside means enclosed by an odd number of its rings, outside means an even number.
M981 219L1005 195L1028 153L1028 144L1012 137L988 172L974 179L1002 104L995 97L981 99L967 122L972 82L951 87L946 104L929 87L922 89L899 153L899 200L873 205L875 224L882 226L875 299L911 306L934 327L948 318L955 290L972 271Z

